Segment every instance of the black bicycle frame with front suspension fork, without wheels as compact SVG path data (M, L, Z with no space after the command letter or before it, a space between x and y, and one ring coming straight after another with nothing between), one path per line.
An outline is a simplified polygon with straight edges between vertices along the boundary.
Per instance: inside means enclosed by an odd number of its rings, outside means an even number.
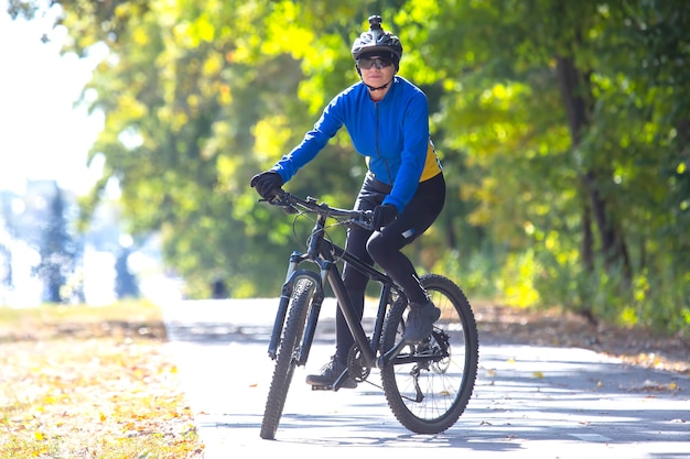
M276 315L276 323L273 325L273 332L271 335L271 341L269 343L269 357L276 359L278 343L281 337L282 327L288 314L288 306L290 303L290 295L294 285L294 280L298 276L311 277L315 285L316 291L312 298L312 309L308 319L306 330L304 334L304 340L301 347L301 353L298 358L298 363L303 365L306 363L313 337L315 334L316 323L319 320L319 314L321 312L321 304L325 297L324 284L328 282L335 298L337 300L337 307L343 313L343 317L347 323L347 326L353 334L355 343L358 346L362 352L362 358L367 367L382 368L388 364L400 351L401 346L393 348L386 356L378 357L378 347L380 337L384 330L384 320L386 318L387 308L390 305L391 294L396 293L398 296L405 297L405 294L400 287L385 273L376 270L374 266L362 262L358 258L351 254L343 248L334 244L325 239L325 222L326 217L319 215L316 222L311 232L309 239L309 248L306 253L299 251L292 252L290 255L290 265L288 267L288 274L285 283L282 286L281 297ZM338 261L348 263L354 269L358 270L363 274L366 274L370 281L376 281L381 284L381 293L379 296L379 304L376 314L376 321L374 325L374 331L371 339L369 340L364 331L360 319L355 313L355 308L349 298L349 294L343 282L341 270L337 266ZM319 273L311 270L300 269L300 265L304 262L312 262L319 266Z

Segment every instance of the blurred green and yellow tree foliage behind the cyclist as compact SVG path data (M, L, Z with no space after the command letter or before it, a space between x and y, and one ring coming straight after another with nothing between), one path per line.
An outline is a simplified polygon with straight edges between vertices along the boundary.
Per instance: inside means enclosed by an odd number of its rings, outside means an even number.
M12 1L11 7L32 2ZM357 80L381 14L428 94L449 184L409 249L470 297L690 328L690 3L682 0L64 0L65 52L105 43L91 156L133 231L160 231L193 297L273 296L291 218L250 177ZM287 185L348 206L365 172L342 132Z

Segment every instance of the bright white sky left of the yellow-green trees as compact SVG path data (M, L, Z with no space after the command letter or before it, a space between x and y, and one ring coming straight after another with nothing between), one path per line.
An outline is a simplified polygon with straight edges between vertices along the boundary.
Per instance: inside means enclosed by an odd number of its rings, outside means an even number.
M26 179L56 179L84 194L99 173L86 159L103 118L74 106L94 63L60 55L65 31L52 30L53 10L12 21L0 0L0 189L21 193Z

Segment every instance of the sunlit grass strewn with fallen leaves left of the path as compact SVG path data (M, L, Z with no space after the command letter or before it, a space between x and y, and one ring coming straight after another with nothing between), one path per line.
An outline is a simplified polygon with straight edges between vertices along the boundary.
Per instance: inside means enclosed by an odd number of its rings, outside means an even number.
M201 458L160 310L0 308L0 457Z

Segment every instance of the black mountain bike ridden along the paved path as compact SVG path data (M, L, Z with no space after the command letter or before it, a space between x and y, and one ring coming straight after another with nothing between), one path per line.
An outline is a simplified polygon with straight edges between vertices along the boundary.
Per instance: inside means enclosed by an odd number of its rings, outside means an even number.
M470 402L479 358L476 321L460 287L438 274L420 277L433 304L441 309L441 317L431 336L420 343L408 343L401 338L409 309L402 288L384 272L335 244L326 232L332 227L353 225L371 230L370 210L331 207L313 197L303 199L282 189L276 197L262 201L283 207L297 217L311 216L314 226L306 238L306 250L290 255L281 289L268 348L276 367L263 412L261 438L276 438L294 370L305 365L309 358L326 285L331 286L355 345L347 359L347 369L333 386L320 389L337 391L347 376L358 383L366 381L382 389L395 417L409 430L439 434L454 425ZM380 285L378 309L369 337L343 284L338 267L342 262ZM381 386L368 381L375 369L380 373Z

